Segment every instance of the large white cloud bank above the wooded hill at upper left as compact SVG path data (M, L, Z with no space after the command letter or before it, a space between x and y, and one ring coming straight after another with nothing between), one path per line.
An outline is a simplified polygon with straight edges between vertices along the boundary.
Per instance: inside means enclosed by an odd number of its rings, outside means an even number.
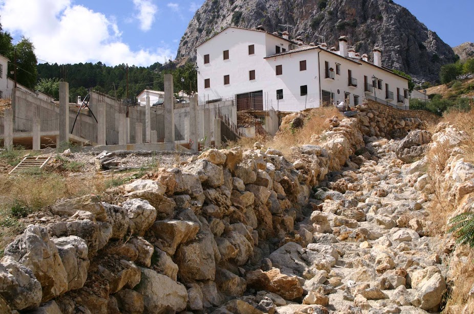
M0 12L3 28L15 37L29 38L37 57L50 62L148 66L175 54L164 43L132 50L122 41L114 17L73 5L71 0L0 0Z

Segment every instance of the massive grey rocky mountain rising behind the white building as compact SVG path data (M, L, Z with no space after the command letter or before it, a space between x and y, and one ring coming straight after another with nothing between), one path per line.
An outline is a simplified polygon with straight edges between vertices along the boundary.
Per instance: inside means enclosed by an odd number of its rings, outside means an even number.
M189 22L177 59L196 59L196 47L227 26L290 32L305 42L338 46L349 36L357 52L383 50L383 65L410 74L418 81L436 81L443 64L455 53L438 35L392 0L206 0Z

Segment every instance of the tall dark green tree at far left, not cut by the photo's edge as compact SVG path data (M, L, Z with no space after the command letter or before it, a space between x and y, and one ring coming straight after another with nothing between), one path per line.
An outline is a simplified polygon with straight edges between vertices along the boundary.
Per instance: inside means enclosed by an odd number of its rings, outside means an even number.
M18 42L14 49L16 50L16 81L28 88L33 89L36 85L36 78L38 76L36 63L36 55L34 53L35 47L33 43L27 38L21 38L21 41ZM11 58L11 60L14 59ZM11 62L9 70L14 69L14 61Z

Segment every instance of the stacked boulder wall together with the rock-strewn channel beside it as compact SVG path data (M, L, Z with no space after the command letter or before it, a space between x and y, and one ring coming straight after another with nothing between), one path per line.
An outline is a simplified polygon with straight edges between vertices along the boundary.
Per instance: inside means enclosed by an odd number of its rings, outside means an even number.
M294 163L208 150L111 190L115 204L31 214L0 260L0 312L437 311L447 256L427 236L421 173L369 113L334 118Z

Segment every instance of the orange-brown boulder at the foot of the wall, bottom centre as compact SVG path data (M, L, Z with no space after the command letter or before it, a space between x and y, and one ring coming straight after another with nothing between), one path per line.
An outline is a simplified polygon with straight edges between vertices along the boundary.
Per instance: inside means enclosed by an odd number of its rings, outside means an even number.
M246 280L248 286L276 293L286 300L298 299L303 295L303 287L298 278L284 275L277 268L268 272L262 270L249 272Z

